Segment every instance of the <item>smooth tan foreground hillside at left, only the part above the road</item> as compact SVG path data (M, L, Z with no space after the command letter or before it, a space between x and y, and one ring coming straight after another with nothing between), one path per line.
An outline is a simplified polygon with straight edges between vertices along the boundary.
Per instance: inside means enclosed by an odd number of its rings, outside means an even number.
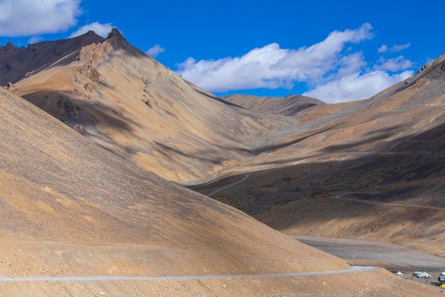
M33 253L32 246L43 253L24 255L32 267L29 271L18 271L19 262L13 262L23 259L6 259L11 255L2 254L1 276L45 275L40 264L53 271L52 264L45 264L53 252L44 254L45 248L54 248L51 244L60 245L58 249L78 244L82 251L75 259L70 260L73 254L58 259L58 265L66 261L65 271L59 271L65 275L73 271L119 274L125 271L126 261L147 274L348 267L232 207L138 169L3 89L0 99L1 242L11 251L18 244L17 249L26 253ZM28 247L21 242L28 242ZM138 266L140 255L119 254L117 248L113 265L121 266L114 271L103 267L107 261L83 265L80 261L94 258L91 244L97 245L97 253L104 253L101 249L107 245L129 245L130 250L137 245L150 261ZM104 254L111 257L109 252ZM119 255L124 255L121 260Z

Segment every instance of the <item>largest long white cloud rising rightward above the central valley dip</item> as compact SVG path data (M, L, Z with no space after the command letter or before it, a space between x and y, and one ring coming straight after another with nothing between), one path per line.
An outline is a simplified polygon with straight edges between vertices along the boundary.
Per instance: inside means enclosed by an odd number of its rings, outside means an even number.
M188 58L178 64L178 72L193 83L217 92L292 88L297 81L316 85L340 66L352 71L363 65L360 54L344 52L344 48L346 43L372 38L371 29L370 24L363 24L355 30L334 31L324 41L296 50L271 43L241 57L201 61Z

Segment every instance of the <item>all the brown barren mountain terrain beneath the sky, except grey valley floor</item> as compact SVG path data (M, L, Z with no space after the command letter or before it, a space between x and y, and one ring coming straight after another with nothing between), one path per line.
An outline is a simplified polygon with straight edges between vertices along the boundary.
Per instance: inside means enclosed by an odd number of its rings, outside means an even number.
M445 257L444 56L336 105L218 98L116 29L0 58L0 295L443 296L285 234Z

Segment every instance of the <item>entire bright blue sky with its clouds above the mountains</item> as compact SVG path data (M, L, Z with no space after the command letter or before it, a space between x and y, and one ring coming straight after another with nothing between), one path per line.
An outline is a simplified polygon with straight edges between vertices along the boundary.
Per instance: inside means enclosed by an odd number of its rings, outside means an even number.
M368 98L445 53L444 0L0 0L0 45L112 27L217 95Z

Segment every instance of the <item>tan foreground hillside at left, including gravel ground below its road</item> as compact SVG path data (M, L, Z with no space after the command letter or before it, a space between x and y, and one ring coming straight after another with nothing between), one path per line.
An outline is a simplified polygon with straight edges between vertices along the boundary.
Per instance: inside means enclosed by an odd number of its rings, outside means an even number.
M0 88L0 276L205 276L348 269L242 212L140 170ZM315 281L316 280L316 281ZM326 287L320 288L320 282ZM297 289L298 288L298 289ZM319 278L13 281L4 296L409 296L385 271ZM301 295L300 295L301 293Z

